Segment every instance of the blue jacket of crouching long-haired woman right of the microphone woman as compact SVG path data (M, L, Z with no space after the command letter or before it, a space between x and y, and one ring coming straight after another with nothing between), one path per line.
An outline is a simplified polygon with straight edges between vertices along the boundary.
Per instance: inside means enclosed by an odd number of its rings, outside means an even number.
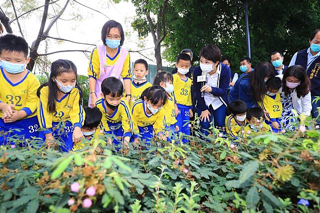
M231 88L230 96L229 96L232 101L235 101L238 99L244 101L248 108L258 106L251 92L251 86L250 86L251 73L252 72L242 75L237 80L237 82L235 83L235 86Z

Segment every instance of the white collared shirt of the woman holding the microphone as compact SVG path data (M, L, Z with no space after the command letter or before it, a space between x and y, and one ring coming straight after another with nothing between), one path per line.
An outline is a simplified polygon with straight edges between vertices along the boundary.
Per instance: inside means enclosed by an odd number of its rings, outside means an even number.
M206 83L206 85L212 86L212 87L219 87L218 77L219 77L220 73L221 73L221 65L219 64L219 67L218 67L216 73L214 73L212 75L207 73L208 82ZM211 94L209 92L204 93L204 100L205 100L208 107L210 105L212 105L213 110L218 109L223 104L221 102L221 100L219 99L219 96L214 96L213 94Z

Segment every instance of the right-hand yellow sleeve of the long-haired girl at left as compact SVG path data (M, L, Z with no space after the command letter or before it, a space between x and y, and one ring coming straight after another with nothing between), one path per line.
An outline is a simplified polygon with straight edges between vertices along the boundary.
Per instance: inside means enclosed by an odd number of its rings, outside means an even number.
M74 89L74 102L72 104L72 109L70 111L70 120L74 127L82 127L84 124L85 112L83 106L79 104L80 100L80 90Z

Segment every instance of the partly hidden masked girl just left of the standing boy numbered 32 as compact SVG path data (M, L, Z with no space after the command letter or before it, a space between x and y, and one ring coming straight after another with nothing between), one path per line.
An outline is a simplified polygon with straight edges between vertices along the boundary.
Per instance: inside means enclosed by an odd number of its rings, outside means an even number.
M167 92L168 101L163 105L165 111L164 120L165 120L165 129L175 133L179 131L179 126L175 118L175 108L174 108L174 99L170 96L170 93L173 92L173 77L170 73L161 71L159 72L155 79L154 85L159 85L164 88ZM168 136L169 134L166 134ZM171 138L171 137L170 137Z

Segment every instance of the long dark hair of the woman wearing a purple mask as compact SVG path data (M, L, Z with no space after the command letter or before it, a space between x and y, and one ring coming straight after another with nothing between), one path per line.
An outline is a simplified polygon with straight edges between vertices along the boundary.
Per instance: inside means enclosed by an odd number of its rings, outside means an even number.
M287 77L294 76L300 80L300 85L296 87L297 96L300 98L301 96L305 96L310 92L311 83L310 79L307 75L306 69L304 69L300 65L294 65L289 67L286 71L283 73L282 78L282 91L284 91L284 94L286 96L289 95L289 88L287 86Z

